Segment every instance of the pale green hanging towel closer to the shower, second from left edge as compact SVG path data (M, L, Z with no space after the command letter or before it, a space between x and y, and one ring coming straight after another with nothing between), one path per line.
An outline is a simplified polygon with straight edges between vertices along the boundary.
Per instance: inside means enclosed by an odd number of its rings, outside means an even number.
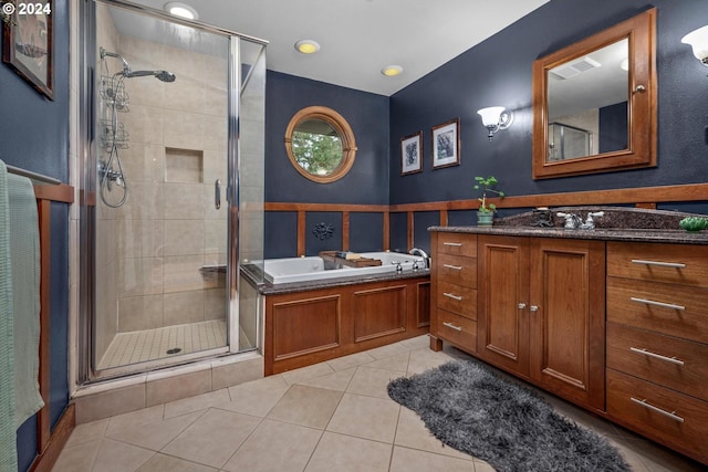
M8 174L14 323L14 427L43 406L40 396L40 230L34 187Z

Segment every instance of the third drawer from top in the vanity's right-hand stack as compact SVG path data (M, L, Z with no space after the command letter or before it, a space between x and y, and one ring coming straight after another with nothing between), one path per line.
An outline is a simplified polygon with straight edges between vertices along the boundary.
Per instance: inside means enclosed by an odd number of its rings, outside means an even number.
M607 367L708 401L708 345L607 324Z

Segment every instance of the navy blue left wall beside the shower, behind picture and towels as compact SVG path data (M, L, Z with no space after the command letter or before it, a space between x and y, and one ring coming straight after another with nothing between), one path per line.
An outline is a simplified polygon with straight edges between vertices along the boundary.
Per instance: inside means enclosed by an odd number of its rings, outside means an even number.
M65 1L53 4L54 101L44 98L7 64L0 64L0 159L55 177L69 176L69 11ZM1 39L0 39L1 41ZM52 424L69 402L67 294L69 214L65 204L52 206L51 347ZM27 470L37 453L37 419L18 430L18 462Z

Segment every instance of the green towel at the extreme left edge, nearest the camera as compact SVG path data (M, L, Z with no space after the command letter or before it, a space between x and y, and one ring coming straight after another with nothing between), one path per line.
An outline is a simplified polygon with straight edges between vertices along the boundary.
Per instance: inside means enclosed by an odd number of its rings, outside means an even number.
M0 471L18 470L8 169L0 160Z

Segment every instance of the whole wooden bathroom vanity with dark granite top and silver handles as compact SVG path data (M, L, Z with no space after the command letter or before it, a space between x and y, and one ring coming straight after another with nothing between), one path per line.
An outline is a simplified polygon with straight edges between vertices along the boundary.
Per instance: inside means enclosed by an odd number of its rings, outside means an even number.
M532 213L430 228L430 347L708 463L708 233L604 210L594 230L534 228Z

